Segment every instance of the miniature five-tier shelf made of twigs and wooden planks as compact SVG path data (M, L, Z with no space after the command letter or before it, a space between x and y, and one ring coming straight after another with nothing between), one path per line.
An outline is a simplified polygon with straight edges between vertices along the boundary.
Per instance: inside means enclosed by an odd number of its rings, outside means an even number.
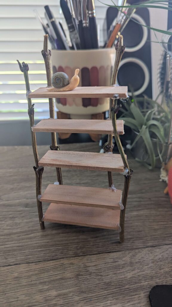
M43 58L45 62L47 84L51 85L50 72L50 53L47 46L48 36L44 36ZM119 43L116 45L115 66L111 80L116 81L116 72L118 71L121 55L125 49L123 38L119 36ZM54 88L41 87L36 91L30 92L28 65L19 63L21 72L24 73L24 80L27 89L28 115L30 120L32 148L35 159L36 174L36 196L39 215L39 224L44 229L44 221L73 224L87 227L107 228L119 231L120 242L124 242L124 221L125 209L129 191L130 179L133 170L129 165L122 150L118 134L124 134L124 123L122 120L116 120L116 111L119 108L119 99L128 98L126 86L101 86L101 87L76 87L73 91L54 91ZM94 77L94 76L93 76ZM29 94L28 94L29 93ZM54 119L54 101L53 98L111 98L109 99L111 120L68 120ZM32 98L52 98L49 99L50 119L40 121L34 125L34 108L31 102ZM112 103L112 99L114 100ZM114 109L112 108L114 105ZM91 107L92 111L96 109ZM70 113L70 112L69 112ZM92 112L94 113L94 111ZM101 118L101 117L100 117ZM32 127L33 126L33 127ZM117 131L116 131L117 130ZM36 134L35 132L50 132L52 150L39 160ZM77 152L77 151L59 151L56 139L56 132L59 133L88 133L88 134L108 134L107 151L108 153ZM111 154L113 148L114 135L120 154ZM95 135L92 136L95 138ZM39 167L38 167L39 166ZM41 167L42 166L42 167ZM57 180L60 185L48 185L47 189L41 194L43 166L56 167ZM125 166L125 173L124 173ZM85 169L108 172L109 188L93 188L83 186L65 186L62 185L61 168ZM124 174L124 191L111 192L110 188L114 186L112 172ZM77 172L75 171L77 174ZM127 173L127 174L126 174ZM38 197L39 196L39 197ZM43 215L42 202L50 203L47 211Z

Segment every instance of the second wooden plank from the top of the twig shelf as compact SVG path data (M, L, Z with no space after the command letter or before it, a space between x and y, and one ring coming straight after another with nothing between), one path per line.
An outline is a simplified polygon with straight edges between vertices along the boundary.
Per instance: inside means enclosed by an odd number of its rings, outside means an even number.
M34 132L96 133L114 135L112 121L99 119L43 119ZM117 120L118 134L124 134L123 120Z

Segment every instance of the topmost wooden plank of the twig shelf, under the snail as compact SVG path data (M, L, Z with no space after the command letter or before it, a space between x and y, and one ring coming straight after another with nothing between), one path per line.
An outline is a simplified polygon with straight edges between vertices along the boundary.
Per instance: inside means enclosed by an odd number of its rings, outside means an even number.
M76 87L73 91L48 91L48 87L40 87L28 95L29 98L127 98L127 86L85 86Z

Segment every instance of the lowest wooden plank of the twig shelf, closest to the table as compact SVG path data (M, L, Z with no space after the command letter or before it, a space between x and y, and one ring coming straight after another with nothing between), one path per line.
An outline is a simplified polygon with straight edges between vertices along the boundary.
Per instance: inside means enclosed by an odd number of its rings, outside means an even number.
M120 231L120 212L121 210L51 203L43 221Z

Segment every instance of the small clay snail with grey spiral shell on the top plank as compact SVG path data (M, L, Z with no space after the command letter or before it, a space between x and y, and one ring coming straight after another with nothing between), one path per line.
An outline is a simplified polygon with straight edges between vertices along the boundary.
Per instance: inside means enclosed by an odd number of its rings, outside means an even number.
M78 76L79 68L75 69L75 75L69 82L68 75L65 72L56 72L52 76L52 85L53 87L47 88L48 91L72 91L76 88L80 82L80 78Z

